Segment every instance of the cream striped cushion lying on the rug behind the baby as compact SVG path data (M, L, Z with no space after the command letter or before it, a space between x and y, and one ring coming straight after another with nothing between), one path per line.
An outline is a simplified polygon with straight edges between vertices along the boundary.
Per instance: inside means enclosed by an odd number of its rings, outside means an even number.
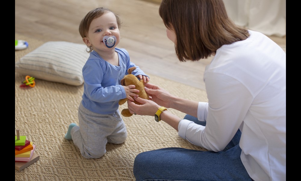
M82 85L82 67L89 57L84 44L50 41L23 56L15 71L36 79Z

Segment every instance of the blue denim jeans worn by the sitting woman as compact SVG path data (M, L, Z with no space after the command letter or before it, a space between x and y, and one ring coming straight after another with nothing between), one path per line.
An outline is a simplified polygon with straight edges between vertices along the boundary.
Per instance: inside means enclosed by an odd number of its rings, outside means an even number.
M186 115L184 119L206 125L196 117ZM240 160L241 132L223 151L198 151L185 148L162 148L138 154L133 173L136 181L181 181L181 180L252 180Z

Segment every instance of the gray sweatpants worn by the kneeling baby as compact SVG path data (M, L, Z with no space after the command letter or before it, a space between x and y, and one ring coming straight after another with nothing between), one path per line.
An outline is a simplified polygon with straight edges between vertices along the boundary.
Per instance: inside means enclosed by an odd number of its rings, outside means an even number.
M73 143L85 158L100 158L106 153L106 144L120 144L126 140L126 125L120 116L93 113L82 103L78 109L79 125L71 130Z

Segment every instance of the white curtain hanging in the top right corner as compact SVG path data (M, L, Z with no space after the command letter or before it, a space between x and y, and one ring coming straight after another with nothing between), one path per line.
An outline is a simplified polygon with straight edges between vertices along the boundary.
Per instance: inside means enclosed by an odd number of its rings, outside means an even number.
M286 0L224 0L228 16L249 30L286 36Z

